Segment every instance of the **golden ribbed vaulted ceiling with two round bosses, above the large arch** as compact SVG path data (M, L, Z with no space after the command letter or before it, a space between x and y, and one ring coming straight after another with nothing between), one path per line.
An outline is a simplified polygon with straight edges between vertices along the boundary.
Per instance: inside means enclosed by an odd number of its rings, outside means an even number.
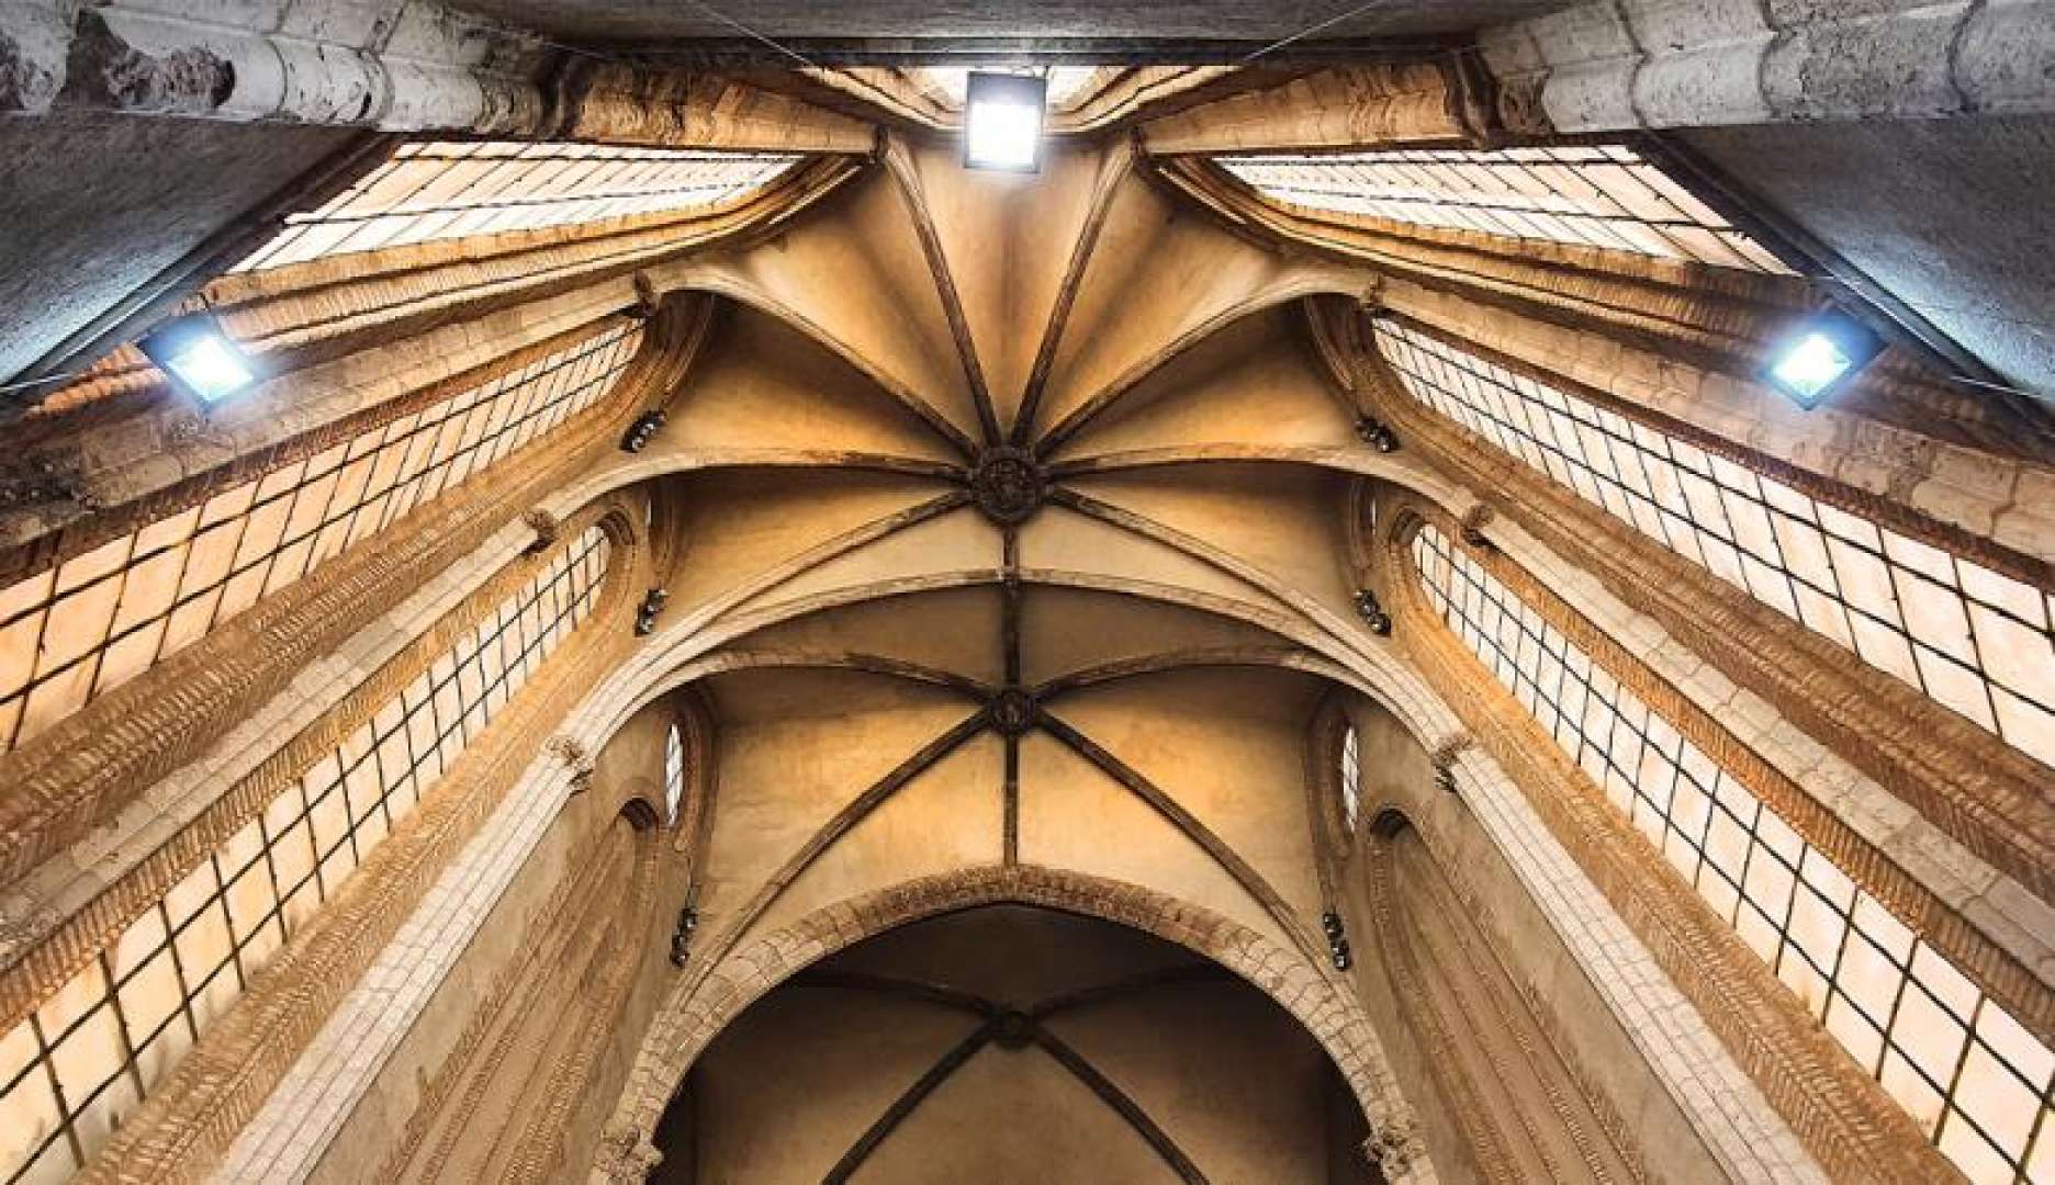
M695 265L727 308L643 462L682 470L651 661L711 676L721 945L1025 863L1317 955L1305 723L1383 661L1346 507L1397 468L1301 298L1360 275L1227 234L1118 142L1036 179L886 164Z

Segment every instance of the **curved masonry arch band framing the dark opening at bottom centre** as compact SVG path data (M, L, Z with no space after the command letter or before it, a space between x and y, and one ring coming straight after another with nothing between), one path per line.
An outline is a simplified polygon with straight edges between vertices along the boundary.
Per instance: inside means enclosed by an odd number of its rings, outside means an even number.
M639 1185L660 1160L649 1142L686 1070L750 1004L804 967L886 930L976 906L1038 906L1099 918L1212 959L1282 1006L1334 1060L1369 1121L1365 1154L1393 1185L1436 1181L1418 1117L1399 1091L1362 1004L1286 949L1223 914L1130 885L1036 865L921 877L822 906L680 980L643 1037L600 1140L590 1185Z

